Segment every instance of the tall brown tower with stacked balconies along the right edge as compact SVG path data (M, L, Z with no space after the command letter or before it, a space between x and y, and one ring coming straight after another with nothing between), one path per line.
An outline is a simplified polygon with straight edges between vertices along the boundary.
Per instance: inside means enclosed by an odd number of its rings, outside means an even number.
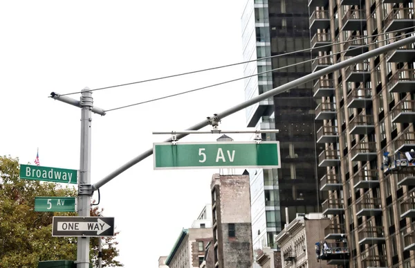
M308 3L313 71L414 35L414 1ZM415 267L414 56L403 46L315 81L322 213L326 233L347 235L342 267Z

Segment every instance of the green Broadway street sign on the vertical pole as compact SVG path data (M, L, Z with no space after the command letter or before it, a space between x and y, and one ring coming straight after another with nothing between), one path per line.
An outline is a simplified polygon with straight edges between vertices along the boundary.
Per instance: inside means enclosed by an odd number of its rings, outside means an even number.
M77 184L77 170L20 164L20 179Z

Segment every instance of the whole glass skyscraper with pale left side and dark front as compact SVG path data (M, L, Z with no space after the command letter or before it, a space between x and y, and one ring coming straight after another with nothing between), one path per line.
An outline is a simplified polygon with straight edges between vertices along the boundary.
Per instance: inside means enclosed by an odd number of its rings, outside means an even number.
M311 73L308 1L248 0L242 15L243 60L256 60L244 66L246 99L258 96L286 82ZM277 56L272 57L270 56ZM288 67L287 67L288 66ZM284 68L283 68L284 67ZM273 70L271 72L271 70ZM268 73L264 73L268 71ZM286 223L285 208L291 220L295 213L317 212L323 197L317 195L316 132L317 102L313 82L291 89L246 109L248 127L279 129L279 134L263 134L264 141L278 140L282 168L250 170L252 242L254 251L276 248L274 236Z

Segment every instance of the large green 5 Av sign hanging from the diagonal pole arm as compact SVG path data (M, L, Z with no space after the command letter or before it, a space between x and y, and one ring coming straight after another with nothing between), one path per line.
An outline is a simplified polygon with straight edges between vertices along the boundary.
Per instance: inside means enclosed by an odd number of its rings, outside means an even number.
M154 169L280 168L279 141L154 143Z

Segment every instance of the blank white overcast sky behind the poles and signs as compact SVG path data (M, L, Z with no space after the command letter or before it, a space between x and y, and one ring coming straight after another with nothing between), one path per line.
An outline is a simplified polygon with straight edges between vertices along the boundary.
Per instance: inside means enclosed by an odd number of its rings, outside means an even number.
M241 0L2 1L0 154L42 166L79 169L80 109L48 98L242 61ZM243 67L96 91L111 109L243 76ZM80 94L71 97L79 99ZM93 115L92 183L169 136L244 98L243 82ZM210 129L210 128L205 128ZM246 129L245 111L221 129ZM235 141L250 135L230 134ZM215 141L216 135L183 141ZM158 267L181 229L210 202L219 170L153 170L149 157L101 188L116 218L125 267ZM95 194L96 198L97 195Z

